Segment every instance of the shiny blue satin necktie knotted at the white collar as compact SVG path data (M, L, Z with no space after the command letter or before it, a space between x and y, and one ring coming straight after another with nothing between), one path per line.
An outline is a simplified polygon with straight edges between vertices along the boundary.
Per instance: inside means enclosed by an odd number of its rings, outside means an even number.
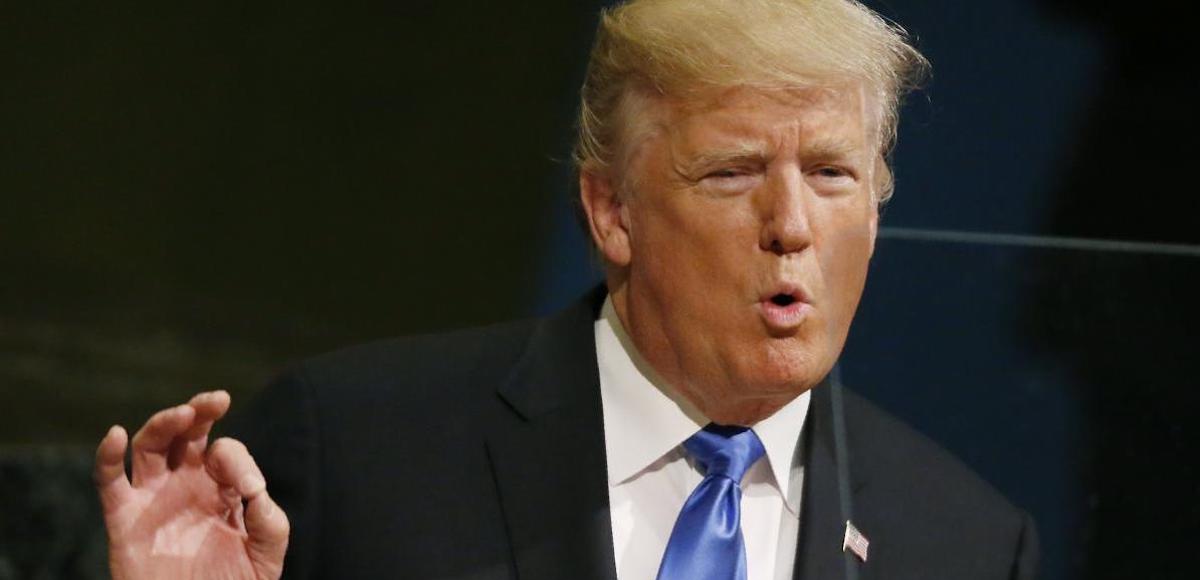
M745 580L740 482L762 442L749 427L709 424L683 447L706 474L679 510L658 580Z

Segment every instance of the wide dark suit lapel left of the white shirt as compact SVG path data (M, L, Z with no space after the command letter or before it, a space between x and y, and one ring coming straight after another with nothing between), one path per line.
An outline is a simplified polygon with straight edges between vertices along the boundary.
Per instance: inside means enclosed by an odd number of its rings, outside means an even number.
M540 322L499 389L487 448L521 580L617 578L593 323L605 293Z

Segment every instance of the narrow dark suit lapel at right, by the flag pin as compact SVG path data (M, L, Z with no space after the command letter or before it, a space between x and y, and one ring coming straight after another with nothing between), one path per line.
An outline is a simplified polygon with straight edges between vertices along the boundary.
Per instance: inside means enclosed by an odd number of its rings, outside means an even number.
M846 520L838 498L838 459L834 453L833 405L829 384L812 389L812 405L805 424L804 496L800 507L800 539L796 554L796 580L826 580L846 578L846 560L853 556L841 550ZM848 430L848 426L847 426ZM851 446L853 437L847 437ZM847 453L854 456L853 448ZM853 465L851 465L853 466ZM851 470L851 496L854 506L866 485L862 470ZM859 578L870 572L857 560Z

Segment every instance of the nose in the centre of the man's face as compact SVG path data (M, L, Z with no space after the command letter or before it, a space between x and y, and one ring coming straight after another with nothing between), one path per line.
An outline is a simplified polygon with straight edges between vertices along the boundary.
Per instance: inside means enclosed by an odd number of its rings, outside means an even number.
M812 191L799 171L784 171L769 178L762 192L762 232L758 245L776 255L799 252L812 244L809 202Z

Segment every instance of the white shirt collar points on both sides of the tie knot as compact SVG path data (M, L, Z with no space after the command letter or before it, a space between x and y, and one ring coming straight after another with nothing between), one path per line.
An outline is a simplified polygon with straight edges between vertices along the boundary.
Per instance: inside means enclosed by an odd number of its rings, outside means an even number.
M646 471L709 423L695 406L650 367L634 347L617 317L612 298L605 300L595 323L596 361L604 405L608 485L617 486ZM767 450L774 484L790 510L792 466L810 394L805 391L770 417L752 425Z

